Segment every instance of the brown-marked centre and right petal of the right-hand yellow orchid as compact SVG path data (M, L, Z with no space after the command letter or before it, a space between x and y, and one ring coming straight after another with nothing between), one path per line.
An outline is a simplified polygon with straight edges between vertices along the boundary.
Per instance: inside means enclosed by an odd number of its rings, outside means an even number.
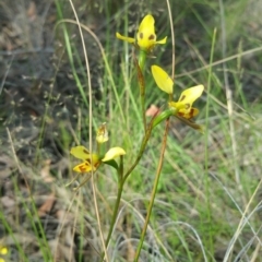
M181 93L178 102L170 102L168 105L178 109L178 116L191 119L199 114L199 109L192 107L192 104L202 95L203 91L203 85L190 87Z

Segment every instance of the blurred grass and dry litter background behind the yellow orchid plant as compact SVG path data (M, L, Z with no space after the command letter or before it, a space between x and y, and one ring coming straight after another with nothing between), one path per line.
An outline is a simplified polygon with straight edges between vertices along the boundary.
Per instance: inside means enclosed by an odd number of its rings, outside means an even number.
M73 0L84 31L93 90L93 130L107 122L109 145L133 162L143 135L132 47L152 13L157 35L150 62L171 72L166 2ZM170 0L176 34L176 92L203 84L196 121L205 134L171 120L156 202L141 261L262 261L261 0ZM83 46L67 0L0 0L0 247L4 261L99 261L103 252L91 182L74 192L70 147L90 145ZM211 52L212 41L214 52ZM213 61L211 58L213 56ZM207 88L209 87L209 88ZM163 107L146 74L146 106ZM157 127L124 188L110 261L132 261L160 153ZM96 172L105 237L116 174Z

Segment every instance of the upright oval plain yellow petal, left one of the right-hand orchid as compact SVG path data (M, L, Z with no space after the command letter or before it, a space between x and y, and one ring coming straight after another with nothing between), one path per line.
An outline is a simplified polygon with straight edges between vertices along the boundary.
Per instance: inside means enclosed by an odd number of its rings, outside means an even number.
M166 92L167 94L172 94L174 82L171 78L158 66L152 66L151 71L157 86Z

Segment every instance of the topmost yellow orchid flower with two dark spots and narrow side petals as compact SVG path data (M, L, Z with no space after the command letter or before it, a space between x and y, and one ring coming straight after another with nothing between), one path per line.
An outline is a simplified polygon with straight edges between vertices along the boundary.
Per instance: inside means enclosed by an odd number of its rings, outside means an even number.
M136 33L136 41L135 38L122 36L119 33L116 33L118 39L134 44L143 50L151 50L156 44L166 44L167 37L162 40L156 40L155 34L155 20L151 14L147 14L142 20L139 32Z

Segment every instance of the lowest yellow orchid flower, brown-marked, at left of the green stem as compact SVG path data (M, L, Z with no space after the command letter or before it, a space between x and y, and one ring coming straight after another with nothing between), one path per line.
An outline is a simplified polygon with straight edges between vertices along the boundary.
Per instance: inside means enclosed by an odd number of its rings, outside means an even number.
M76 165L73 170L76 172L90 172L95 171L102 164L102 162L112 160L120 155L126 155L126 152L121 147L110 148L104 157L99 157L97 154L90 154L88 150L83 145L72 147L70 154L74 157L83 160L83 163Z

